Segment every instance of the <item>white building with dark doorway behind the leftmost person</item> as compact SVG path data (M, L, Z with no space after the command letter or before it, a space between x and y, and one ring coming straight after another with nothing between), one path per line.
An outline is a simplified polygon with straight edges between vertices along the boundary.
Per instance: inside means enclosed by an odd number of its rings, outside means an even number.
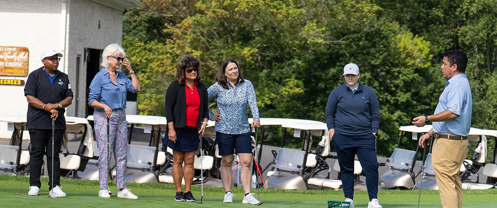
M0 0L0 59L9 47L27 48L29 74L43 66L40 53L44 48L61 52L59 70L69 75L75 96L67 115L85 117L86 90L99 71L101 51L110 43L121 44L124 9L141 6L138 0ZM0 113L26 114L23 83L27 75L4 75L0 72ZM12 83L5 80L24 82L4 85ZM0 122L0 138L10 137L6 129L6 123Z

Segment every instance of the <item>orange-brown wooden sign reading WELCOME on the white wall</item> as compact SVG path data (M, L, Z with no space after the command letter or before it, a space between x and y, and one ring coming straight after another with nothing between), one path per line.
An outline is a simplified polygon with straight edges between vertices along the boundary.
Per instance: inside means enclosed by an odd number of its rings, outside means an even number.
M27 76L27 47L0 46L0 76Z

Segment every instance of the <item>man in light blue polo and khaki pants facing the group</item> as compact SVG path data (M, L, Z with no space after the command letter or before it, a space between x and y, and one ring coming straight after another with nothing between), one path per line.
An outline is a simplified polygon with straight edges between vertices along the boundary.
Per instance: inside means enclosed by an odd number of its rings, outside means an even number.
M462 185L459 168L468 155L468 133L471 128L473 100L465 70L468 56L462 50L443 53L442 74L447 79L434 115L413 119L416 126L429 121L433 128L419 138L419 146L434 137L431 166L435 171L443 208L462 208Z

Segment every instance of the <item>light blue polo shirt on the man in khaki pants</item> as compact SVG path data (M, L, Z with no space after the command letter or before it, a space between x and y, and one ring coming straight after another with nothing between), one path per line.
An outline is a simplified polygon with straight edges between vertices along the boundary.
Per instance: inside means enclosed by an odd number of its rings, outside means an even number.
M471 128L473 97L466 74L458 74L445 83L445 89L438 99L435 113L450 110L459 117L443 122L433 122L433 132L467 136Z

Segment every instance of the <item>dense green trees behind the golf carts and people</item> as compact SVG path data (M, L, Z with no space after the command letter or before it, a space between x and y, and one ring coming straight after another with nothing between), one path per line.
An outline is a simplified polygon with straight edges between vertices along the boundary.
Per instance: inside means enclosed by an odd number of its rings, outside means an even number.
M123 46L141 74L141 114L164 115L175 63L191 53L207 86L235 59L254 84L261 117L325 121L331 90L354 62L381 112L378 153L390 155L398 128L432 114L443 91L441 53L467 51L473 126L497 128L496 4L491 0L145 0L124 15ZM267 132L279 145L281 130ZM299 146L301 139L287 141ZM415 144L409 144L414 148Z

